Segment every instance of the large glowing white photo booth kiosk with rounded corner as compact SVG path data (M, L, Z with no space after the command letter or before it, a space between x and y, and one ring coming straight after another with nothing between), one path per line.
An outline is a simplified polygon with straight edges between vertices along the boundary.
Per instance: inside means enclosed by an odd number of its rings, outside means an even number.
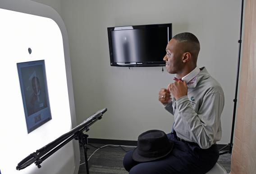
M0 173L77 174L72 140L38 169L19 161L77 125L67 32L59 14L30 0L0 0Z

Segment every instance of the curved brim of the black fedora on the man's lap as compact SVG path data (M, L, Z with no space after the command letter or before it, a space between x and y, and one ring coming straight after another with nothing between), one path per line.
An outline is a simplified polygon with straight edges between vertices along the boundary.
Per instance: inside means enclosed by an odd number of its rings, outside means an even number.
M137 162L148 162L148 161L155 161L155 160L158 160L160 158L166 157L167 155L169 155L170 152L172 152L173 147L174 147L174 142L172 140L170 140L170 139L169 139L169 142L170 142L171 148L170 148L170 150L168 152L166 152L162 156L159 156L159 157L142 157L137 152L138 148L135 148L133 150L132 158L133 158L134 161L137 161Z

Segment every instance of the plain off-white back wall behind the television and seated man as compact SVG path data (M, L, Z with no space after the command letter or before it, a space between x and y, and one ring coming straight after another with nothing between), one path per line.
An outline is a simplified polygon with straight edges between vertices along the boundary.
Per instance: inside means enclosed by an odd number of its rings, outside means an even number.
M37 0L46 1L46 0ZM107 27L173 23L173 35L194 33L198 65L206 66L224 89L223 138L230 141L238 60L239 0L61 0L69 35L78 123L101 108L104 118L90 138L137 140L145 130L169 132L174 119L158 101L158 91L174 75L161 67L111 67ZM163 48L165 49L165 48Z

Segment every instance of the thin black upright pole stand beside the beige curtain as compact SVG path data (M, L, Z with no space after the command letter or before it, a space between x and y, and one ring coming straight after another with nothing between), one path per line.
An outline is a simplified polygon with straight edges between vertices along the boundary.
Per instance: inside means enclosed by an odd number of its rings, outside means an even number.
M232 153L232 148L233 148L233 135L234 135L234 126L235 126L235 117L236 117L236 109L237 109L237 96L238 96L238 80L239 80L239 69L240 69L240 56L241 56L241 43L242 43L242 16L243 16L243 1L242 0L242 7L241 7L241 22L240 22L240 39L238 40L239 44L239 50L238 50L238 68L237 68L237 81L236 81L236 91L235 91L235 99L233 100L234 102L234 108L233 108L233 121L232 121L232 130L231 130L231 138L230 138L230 143L223 148L219 149L219 155L223 155L226 153ZM226 152L220 152L224 148L229 147L229 151Z

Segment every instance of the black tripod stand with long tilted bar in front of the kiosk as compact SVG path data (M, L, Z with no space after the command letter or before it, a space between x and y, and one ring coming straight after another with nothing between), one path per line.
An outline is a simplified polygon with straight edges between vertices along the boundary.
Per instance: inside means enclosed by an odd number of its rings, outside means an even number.
M76 126L68 133L61 135L59 138L55 139L51 143L47 144L43 148L38 149L36 152L31 153L22 161L20 161L16 167L16 170L22 170L26 168L28 165L35 163L38 168L41 168L41 163L45 161L48 157L50 157L57 150L62 148L65 144L69 143L72 139L76 139L83 146L85 165L87 174L89 174L88 160L87 160L87 147L88 143L87 137L88 135L83 134L83 131L88 131L89 127L96 121L100 120L103 116L103 113L107 111L106 108L99 110L95 114L88 117L85 121L83 121L80 125Z

